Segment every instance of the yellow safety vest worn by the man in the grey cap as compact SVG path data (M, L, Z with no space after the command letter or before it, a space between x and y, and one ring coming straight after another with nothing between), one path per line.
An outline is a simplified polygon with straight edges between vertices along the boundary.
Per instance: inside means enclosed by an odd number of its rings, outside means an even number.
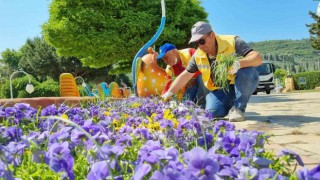
M231 55L235 54L235 36L233 35L216 35L216 40L218 43L218 53L217 53L217 63L219 63L219 55ZM202 80L204 85L210 91L219 89L220 87L215 86L211 79L211 66L209 64L208 56L201 49L197 49L195 52L195 61L198 66L199 71L202 73ZM228 75L230 84L234 84L235 75Z

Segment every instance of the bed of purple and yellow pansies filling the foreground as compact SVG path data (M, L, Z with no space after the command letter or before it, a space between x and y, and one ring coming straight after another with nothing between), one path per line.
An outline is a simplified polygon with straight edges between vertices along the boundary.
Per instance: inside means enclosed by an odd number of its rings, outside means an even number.
M0 107L3 179L320 179L320 165L264 149L192 102L129 98L83 107Z

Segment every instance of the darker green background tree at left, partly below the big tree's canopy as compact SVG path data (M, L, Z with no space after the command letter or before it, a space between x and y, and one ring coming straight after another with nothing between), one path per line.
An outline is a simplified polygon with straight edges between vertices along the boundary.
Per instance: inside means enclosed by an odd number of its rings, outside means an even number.
M59 80L61 73L68 72L74 77L81 76L86 81L101 82L112 81L115 77L108 77L110 66L93 69L83 67L79 59L75 57L59 57L54 47L48 45L43 38L28 39L21 47L21 60L19 67L44 81L47 77Z

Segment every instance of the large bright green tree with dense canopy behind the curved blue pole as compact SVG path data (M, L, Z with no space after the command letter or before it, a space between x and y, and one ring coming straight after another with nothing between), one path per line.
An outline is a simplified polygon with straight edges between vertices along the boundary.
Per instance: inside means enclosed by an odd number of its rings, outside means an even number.
M205 20L200 0L166 0L167 22L156 45L186 47L192 25ZM154 35L161 19L160 0L53 0L43 28L45 40L84 66L112 65L125 73L138 50ZM109 72L110 73L110 72Z

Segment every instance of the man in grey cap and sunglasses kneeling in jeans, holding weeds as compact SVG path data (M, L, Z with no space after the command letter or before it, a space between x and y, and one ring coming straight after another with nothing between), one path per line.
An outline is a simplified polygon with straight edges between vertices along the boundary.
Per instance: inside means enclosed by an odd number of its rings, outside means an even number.
M247 103L259 83L259 75L254 66L262 63L261 55L238 36L215 34L211 26L203 21L194 24L191 35L189 43L197 44L198 49L162 98L169 100L195 72L200 71L203 83L210 91L206 95L206 109L214 117L228 115L232 122L244 121ZM211 67L219 63L220 55L239 57L228 71L229 91L214 84Z

